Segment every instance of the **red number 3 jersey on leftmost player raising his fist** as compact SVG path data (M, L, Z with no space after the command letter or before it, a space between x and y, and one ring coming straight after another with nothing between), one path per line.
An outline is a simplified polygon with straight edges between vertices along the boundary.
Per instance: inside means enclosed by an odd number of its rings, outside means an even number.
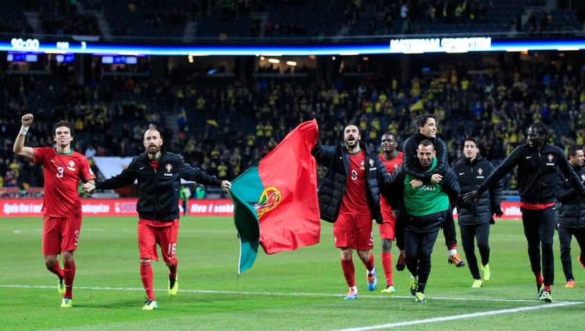
M42 164L44 198L42 212L49 217L81 216L79 180L94 180L88 159L81 153L57 153L55 148L33 148L33 163Z

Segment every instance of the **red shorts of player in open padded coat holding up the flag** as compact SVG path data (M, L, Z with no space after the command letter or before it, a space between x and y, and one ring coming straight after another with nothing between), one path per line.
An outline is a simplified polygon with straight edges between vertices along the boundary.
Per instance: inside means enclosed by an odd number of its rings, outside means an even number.
M333 242L337 248L354 248L357 251L374 248L370 213L339 214L333 223Z

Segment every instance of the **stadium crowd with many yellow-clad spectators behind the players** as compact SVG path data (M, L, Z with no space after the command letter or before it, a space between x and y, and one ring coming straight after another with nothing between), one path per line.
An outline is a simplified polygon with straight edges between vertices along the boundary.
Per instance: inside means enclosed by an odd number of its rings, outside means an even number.
M2 185L42 187L40 169L15 158L11 150L19 117L26 112L35 114L31 130L38 133L49 132L56 119L72 121L75 149L90 159L137 154L142 129L157 124L170 151L220 178L235 178L309 119L317 119L324 144L336 143L343 124L356 123L363 141L377 147L386 131L399 133L401 142L413 133L413 118L431 112L438 117L451 164L461 158L466 135L479 137L481 153L497 164L524 141L533 121L550 126L554 144L584 145L581 67L566 62L470 70L468 65L413 76L405 85L396 77L376 76L318 84L311 72L247 83L217 78L210 84L183 68L171 70L167 80L122 73L98 76L87 86L60 67L49 76L1 74ZM39 137L32 135L31 146L52 143L51 137ZM509 176L506 189L515 188L515 176Z

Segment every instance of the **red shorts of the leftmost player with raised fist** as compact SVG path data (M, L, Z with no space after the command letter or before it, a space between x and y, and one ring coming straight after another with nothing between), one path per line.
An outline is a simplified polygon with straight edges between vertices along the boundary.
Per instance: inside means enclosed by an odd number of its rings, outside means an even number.
M42 220L42 255L75 251L81 231L80 217L50 217Z

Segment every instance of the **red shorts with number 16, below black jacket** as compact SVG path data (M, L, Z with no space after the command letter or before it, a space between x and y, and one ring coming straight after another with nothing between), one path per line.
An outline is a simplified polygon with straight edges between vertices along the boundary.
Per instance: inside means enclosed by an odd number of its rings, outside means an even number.
M156 245L160 246L163 261L170 263L175 259L176 235L179 233L179 219L172 221L138 220L138 250L141 259L158 261Z

